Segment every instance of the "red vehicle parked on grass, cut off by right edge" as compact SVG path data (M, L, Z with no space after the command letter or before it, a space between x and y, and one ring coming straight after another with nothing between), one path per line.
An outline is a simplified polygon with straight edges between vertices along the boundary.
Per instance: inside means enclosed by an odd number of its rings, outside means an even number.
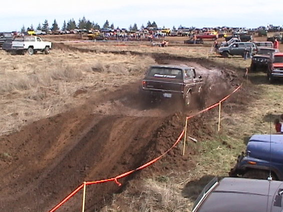
M270 83L275 78L283 78L283 52L274 53L272 63L267 70L267 77Z

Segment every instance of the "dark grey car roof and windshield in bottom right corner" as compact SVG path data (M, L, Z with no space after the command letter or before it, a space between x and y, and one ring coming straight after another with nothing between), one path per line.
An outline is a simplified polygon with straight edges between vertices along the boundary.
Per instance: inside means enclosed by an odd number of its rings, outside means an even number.
M196 199L192 212L280 212L282 190L281 181L214 178Z

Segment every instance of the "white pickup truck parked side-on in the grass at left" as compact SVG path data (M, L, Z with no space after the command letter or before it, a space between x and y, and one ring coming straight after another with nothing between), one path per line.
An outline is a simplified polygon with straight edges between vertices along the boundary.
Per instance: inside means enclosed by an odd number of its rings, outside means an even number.
M12 41L11 50L25 54L26 51L33 55L37 51L42 51L48 54L52 47L52 42L43 41L39 36L20 36L15 37Z

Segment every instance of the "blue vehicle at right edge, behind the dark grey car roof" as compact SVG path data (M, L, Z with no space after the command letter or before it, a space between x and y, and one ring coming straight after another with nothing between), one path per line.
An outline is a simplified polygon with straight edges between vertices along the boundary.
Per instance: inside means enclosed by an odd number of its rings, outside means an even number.
M267 179L270 173L273 179L283 180L283 135L252 135L229 176Z

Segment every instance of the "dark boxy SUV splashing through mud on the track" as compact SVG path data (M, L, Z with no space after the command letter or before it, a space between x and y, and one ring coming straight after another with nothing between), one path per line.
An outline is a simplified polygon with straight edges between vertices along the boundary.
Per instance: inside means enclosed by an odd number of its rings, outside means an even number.
M191 95L200 92L201 76L187 65L150 66L142 81L142 91L152 98L179 98L183 105L191 104Z

